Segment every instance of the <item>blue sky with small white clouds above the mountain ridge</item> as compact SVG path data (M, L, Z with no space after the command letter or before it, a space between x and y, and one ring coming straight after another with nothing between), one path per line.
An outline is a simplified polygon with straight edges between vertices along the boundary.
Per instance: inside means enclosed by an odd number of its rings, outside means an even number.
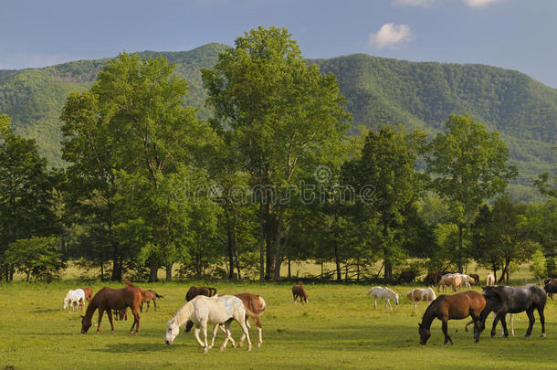
M556 0L0 0L0 69L233 45L257 26L287 27L306 58L482 63L557 88Z

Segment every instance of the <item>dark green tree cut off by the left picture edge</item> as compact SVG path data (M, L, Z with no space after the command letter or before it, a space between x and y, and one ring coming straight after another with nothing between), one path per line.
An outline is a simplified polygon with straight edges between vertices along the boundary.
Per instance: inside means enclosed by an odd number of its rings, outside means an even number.
M12 132L7 115L0 115L0 258L16 240L58 234L51 190L56 176L38 153L35 140ZM0 262L6 281L15 265Z

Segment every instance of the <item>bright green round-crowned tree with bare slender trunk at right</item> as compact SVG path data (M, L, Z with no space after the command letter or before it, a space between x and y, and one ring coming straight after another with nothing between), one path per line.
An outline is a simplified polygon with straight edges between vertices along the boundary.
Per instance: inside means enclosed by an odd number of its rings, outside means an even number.
M516 168L507 164L507 144L499 132L489 133L470 116L451 115L447 132L437 133L426 155L431 186L451 206L451 221L458 227L458 271L463 271L464 230L478 213L479 206L505 190L516 176Z

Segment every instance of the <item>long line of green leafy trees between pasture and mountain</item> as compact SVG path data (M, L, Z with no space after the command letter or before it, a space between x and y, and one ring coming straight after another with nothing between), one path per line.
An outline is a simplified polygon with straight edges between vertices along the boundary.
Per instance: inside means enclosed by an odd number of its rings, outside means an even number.
M536 275L557 273L554 178L536 181L545 203L512 203L507 144L468 115L429 137L395 124L347 135L336 76L284 28L237 37L202 70L206 120L173 72L163 57L122 53L71 93L64 168L0 116L3 280L57 279L69 259L102 280L153 281L160 269L172 280L176 265L179 278L278 280L308 259L333 262L321 278L336 280L471 260L499 281L529 260Z

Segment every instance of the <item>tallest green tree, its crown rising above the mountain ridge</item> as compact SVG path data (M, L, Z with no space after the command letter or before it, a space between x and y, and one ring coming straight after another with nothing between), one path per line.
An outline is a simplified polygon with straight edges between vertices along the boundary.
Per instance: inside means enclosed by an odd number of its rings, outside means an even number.
M242 170L257 188L259 278L278 278L285 250L289 196L304 171L338 152L349 119L337 79L308 66L285 28L258 27L202 70L208 104L232 135ZM273 193L268 199L265 193ZM266 248L267 245L267 248ZM267 249L267 263L265 251ZM267 265L267 269L265 269Z

